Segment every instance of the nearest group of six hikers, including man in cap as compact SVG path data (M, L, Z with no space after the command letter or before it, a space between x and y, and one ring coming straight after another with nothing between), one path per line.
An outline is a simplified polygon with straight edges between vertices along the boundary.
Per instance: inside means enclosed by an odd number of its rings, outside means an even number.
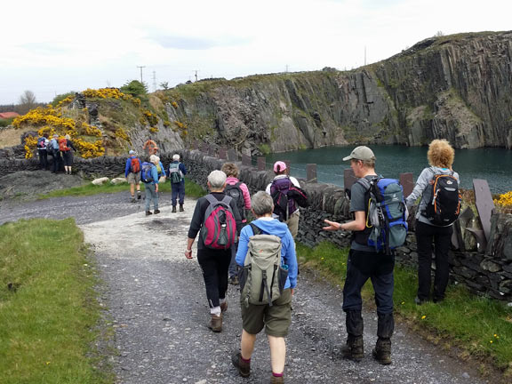
M430 166L421 172L412 194L404 198L397 180L376 173L371 148L357 147L343 158L350 162L357 178L347 191L352 220L324 220L323 230L352 233L343 287L347 341L341 353L345 358L364 358L361 290L370 279L378 316L378 339L372 356L380 364L392 363L394 248L404 244L408 212L418 201L415 227L419 288L415 302L421 305L430 299L444 300L452 223L460 211L460 180L452 170L453 159L454 150L448 141L433 140L428 148ZM272 367L270 382L283 383L284 337L292 321L292 296L299 272L294 238L299 228L299 206L308 205L308 196L299 181L288 174L287 164L276 162L274 172L266 190L250 197L247 186L238 180L236 164L223 164L220 170L212 171L207 178L209 194L196 202L185 257L192 259L192 247L199 235L197 261L203 271L212 332L222 332L228 284L240 285L243 330L240 348L231 356L239 374L251 374L256 335L265 329ZM250 223L246 219L249 211ZM431 296L433 253L436 271Z

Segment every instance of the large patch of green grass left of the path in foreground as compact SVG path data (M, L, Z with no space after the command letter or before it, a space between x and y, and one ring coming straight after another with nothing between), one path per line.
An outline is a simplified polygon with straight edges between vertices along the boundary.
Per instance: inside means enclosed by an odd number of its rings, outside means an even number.
M16 239L16 241L13 241ZM97 279L75 221L0 226L0 381L112 383L95 351Z

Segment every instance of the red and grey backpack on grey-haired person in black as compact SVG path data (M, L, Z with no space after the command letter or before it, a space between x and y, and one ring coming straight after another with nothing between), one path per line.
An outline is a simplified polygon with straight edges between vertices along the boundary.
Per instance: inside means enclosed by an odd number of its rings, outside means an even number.
M235 243L236 221L229 203L231 197L224 196L219 201L212 195L206 195L208 208L204 213L203 227L201 227L201 238L204 245L212 249L227 250Z

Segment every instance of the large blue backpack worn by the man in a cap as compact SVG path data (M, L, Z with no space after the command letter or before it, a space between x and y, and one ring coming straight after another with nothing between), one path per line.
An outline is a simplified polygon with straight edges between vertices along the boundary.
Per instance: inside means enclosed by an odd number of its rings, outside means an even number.
M375 177L372 181L359 179L356 182L366 188L366 228L364 239L376 251L386 251L402 246L407 236L407 206L404 188L396 179ZM361 241L357 241L362 243Z

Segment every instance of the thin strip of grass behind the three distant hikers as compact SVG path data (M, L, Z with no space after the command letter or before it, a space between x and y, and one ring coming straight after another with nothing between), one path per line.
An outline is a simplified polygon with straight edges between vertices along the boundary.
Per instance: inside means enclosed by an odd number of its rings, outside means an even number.
M141 184L140 189L144 190L144 183ZM159 184L158 190L160 192L171 192L171 183L169 180ZM63 197L63 196L92 196L104 193L117 193L126 191L130 193L129 184L113 185L106 183L100 186L93 185L92 183L86 183L80 187L58 189L47 194L39 195L39 199L51 198L51 197ZM206 190L194 181L185 178L185 196L201 197L206 194Z

